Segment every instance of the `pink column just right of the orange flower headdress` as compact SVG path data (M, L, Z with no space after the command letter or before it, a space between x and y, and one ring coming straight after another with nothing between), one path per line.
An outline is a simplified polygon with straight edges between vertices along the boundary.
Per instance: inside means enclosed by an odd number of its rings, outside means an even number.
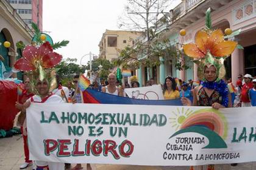
M231 58L231 77L233 84L236 83L237 77L240 74L240 50L235 49L230 57Z

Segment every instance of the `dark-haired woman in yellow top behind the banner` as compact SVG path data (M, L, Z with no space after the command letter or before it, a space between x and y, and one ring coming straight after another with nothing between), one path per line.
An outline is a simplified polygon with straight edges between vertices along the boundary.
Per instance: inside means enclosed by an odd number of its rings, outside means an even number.
M165 100L180 98L180 93L176 90L176 82L171 76L165 78L165 84L163 85L163 97L165 97Z

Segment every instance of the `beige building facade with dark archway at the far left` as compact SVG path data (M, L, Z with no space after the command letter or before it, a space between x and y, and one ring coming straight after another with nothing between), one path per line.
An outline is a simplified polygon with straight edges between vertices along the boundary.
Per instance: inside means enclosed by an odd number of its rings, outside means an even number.
M5 0L0 1L0 23L0 55L4 58L2 62L8 72L15 61L21 58L21 50L17 49L16 42L23 41L24 44L30 44L32 30ZM5 41L10 42L10 48L4 47ZM23 75L19 72L15 73L14 77L22 80Z

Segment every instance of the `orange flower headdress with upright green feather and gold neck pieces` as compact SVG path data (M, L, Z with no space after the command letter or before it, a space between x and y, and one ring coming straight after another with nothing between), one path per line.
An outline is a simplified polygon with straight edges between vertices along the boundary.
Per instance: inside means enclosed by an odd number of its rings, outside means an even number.
M240 33L240 30L233 32L226 29L224 36L221 29L212 29L212 20L210 18L210 8L207 10L205 19L205 29L200 30L196 34L195 44L183 45L183 50L187 56L194 59L194 63L198 65L197 77L204 80L205 67L214 66L216 68L217 79L221 80L226 75L224 60L237 47L237 42L229 41L225 38L235 36ZM182 32L180 32L181 34ZM232 33L232 35L230 35Z

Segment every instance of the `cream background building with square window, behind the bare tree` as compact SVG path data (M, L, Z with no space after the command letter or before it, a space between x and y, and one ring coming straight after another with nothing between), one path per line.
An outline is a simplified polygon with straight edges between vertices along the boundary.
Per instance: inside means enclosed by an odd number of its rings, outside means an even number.
M105 30L99 42L99 58L109 61L118 58L118 53L126 46L133 46L134 39L141 36L141 32L123 30Z

